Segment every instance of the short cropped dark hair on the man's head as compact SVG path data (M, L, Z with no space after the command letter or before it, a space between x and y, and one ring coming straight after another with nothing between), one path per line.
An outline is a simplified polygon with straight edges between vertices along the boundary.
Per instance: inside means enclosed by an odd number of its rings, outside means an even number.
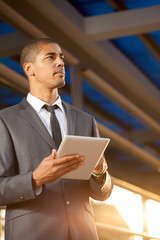
M50 43L57 44L53 39L51 38L39 38L39 39L33 39L30 42L28 42L22 49L20 54L20 64L23 68L24 63L26 62L34 62L36 55L41 51L42 45L47 45Z

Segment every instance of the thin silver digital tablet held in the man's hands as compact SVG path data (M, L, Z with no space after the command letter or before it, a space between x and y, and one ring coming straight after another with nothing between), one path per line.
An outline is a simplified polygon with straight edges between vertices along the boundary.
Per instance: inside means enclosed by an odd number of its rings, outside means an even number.
M61 178L89 179L109 141L109 138L66 135L59 146L57 157L79 154L85 157L85 161L78 169L66 173Z

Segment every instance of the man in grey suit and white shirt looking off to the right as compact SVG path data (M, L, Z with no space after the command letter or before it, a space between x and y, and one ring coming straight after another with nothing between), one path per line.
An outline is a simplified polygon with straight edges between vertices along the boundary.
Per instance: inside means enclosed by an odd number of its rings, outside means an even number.
M56 158L50 115L44 105L57 105L55 114L65 134L98 136L94 118L58 95L65 85L64 56L52 39L28 43L21 65L30 93L19 104L0 112L0 205L6 205L6 240L96 240L89 197L105 200L112 179L101 158L89 180L62 179L81 166L84 156ZM53 133L54 134L54 133ZM56 137L56 136L55 136Z

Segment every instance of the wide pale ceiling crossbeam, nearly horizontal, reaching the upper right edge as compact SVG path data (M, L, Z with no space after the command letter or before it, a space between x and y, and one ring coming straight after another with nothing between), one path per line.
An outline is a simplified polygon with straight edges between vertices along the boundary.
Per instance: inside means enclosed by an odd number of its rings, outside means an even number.
M94 41L160 29L160 5L84 18L84 32Z

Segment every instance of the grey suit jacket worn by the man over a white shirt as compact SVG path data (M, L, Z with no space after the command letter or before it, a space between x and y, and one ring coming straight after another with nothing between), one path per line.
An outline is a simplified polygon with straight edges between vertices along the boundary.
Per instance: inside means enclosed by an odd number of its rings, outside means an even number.
M68 134L97 136L94 118L64 104ZM58 179L36 196L32 172L55 143L30 104L0 111L0 205L6 205L6 240L97 240L89 197L105 200L105 182Z

